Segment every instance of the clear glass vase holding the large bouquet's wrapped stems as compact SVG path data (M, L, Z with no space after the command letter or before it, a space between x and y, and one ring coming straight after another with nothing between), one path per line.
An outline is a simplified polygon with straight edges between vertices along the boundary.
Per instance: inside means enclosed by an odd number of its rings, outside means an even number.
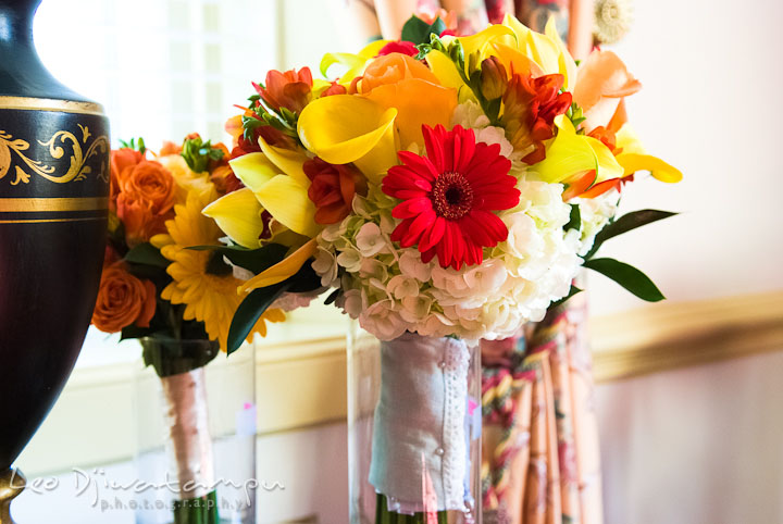
M348 339L351 524L481 523L481 358L455 338Z

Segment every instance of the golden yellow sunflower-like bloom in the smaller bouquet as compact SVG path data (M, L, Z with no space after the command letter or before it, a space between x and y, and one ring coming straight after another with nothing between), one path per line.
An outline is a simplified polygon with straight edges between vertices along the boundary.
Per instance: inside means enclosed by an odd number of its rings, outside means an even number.
M217 198L214 185L207 183L191 187L184 204L174 207L174 220L166 222L167 234L150 240L171 261L166 272L174 279L161 294L174 304L186 304L184 320L203 322L211 340L219 340L225 351L228 327L244 296L237 294L241 280L234 277L231 266L215 251L195 251L192 246L220 245L223 236L215 222L201 214L201 210ZM268 310L248 335L266 335L266 321L283 322L285 313Z

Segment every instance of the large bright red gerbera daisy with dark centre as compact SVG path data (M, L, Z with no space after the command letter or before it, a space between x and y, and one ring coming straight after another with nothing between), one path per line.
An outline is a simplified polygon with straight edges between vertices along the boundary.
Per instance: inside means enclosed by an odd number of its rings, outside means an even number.
M459 270L480 264L483 248L506 240L506 224L492 211L519 203L511 161L500 146L476 144L472 129L422 126L426 157L397 154L405 165L389 169L383 191L402 200L393 215L402 222L391 240L403 248L419 246L422 261L437 254L440 266Z

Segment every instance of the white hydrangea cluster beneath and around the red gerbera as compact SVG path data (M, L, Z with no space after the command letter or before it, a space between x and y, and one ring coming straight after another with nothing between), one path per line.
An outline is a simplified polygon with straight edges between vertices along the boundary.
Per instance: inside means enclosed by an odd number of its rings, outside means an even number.
M468 341L507 338L525 322L540 321L552 301L568 295L582 264L577 253L589 249L616 211L616 194L580 200L581 232L566 232L571 208L561 184L529 180L504 130L490 126L477 104L459 104L452 124L474 129L478 141L499 144L521 192L517 207L498 213L509 234L484 249L483 263L444 269L437 257L424 263L415 246L391 242L398 201L376 185L353 199L353 214L318 237L313 269L322 283L340 287L337 305L383 340L406 332Z

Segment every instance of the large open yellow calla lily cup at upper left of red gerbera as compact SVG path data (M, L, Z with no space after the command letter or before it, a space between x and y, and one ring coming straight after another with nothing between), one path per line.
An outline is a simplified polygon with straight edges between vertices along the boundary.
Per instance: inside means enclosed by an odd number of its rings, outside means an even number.
M353 164L378 183L397 164L397 110L365 97L335 95L310 102L297 132L307 149L331 164Z

